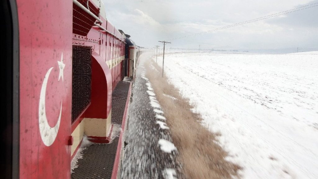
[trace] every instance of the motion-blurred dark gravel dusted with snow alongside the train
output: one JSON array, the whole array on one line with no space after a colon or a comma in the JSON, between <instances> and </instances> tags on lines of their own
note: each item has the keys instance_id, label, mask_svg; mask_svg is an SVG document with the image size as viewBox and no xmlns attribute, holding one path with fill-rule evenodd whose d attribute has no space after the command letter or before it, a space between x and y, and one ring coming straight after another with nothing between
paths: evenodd
<instances>
[{"instance_id":1,"label":"motion-blurred dark gravel dusted with snow alongside the train","mask_svg":"<svg viewBox=\"0 0 318 179\"><path fill-rule=\"evenodd\" d=\"M129 106L128 131L126 131L126 142L129 144L125 147L121 178L183 178L178 151L173 148L169 151L169 146L162 149L167 146L159 144L159 140L172 142L172 139L169 129L160 128L156 123L160 121L156 115L158 117L164 114L156 113L154 110L156 108L150 103L143 67L143 62L149 58L149 55L142 54L140 58L141 64L137 68L132 90L133 100Z\"/></svg>"}]
</instances>

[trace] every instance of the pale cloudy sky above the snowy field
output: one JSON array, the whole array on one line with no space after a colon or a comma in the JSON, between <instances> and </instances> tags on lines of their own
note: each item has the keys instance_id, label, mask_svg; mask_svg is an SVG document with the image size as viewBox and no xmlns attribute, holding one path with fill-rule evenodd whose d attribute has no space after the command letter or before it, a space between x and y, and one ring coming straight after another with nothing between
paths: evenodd
<instances>
[{"instance_id":1,"label":"pale cloudy sky above the snowy field","mask_svg":"<svg viewBox=\"0 0 318 179\"><path fill-rule=\"evenodd\" d=\"M177 37L286 11L318 0L102 0L107 19L138 46L318 50L318 6L189 38ZM316 4L317 5L317 4Z\"/></svg>"}]
</instances>

